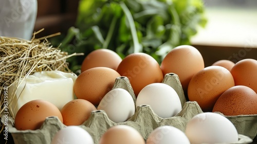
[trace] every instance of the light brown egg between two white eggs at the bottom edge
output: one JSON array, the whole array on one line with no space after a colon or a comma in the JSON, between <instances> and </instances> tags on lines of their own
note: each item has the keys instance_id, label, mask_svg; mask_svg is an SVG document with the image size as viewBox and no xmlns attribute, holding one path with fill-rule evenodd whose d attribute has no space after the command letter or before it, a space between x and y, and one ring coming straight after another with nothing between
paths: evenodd
<instances>
[{"instance_id":1,"label":"light brown egg between two white eggs at the bottom edge","mask_svg":"<svg viewBox=\"0 0 257 144\"><path fill-rule=\"evenodd\" d=\"M145 144L142 135L128 125L115 125L100 138L99 144Z\"/></svg>"}]
</instances>

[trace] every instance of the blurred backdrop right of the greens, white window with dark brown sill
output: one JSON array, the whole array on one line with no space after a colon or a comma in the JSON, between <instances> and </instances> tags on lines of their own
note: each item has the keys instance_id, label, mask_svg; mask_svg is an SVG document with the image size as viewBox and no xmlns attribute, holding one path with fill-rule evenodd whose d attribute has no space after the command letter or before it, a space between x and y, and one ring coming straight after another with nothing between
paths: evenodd
<instances>
[{"instance_id":1,"label":"blurred backdrop right of the greens, white window with dark brown sill","mask_svg":"<svg viewBox=\"0 0 257 144\"><path fill-rule=\"evenodd\" d=\"M257 1L204 2L208 23L198 29L191 43L203 53L206 65L221 59L257 59Z\"/></svg>"}]
</instances>

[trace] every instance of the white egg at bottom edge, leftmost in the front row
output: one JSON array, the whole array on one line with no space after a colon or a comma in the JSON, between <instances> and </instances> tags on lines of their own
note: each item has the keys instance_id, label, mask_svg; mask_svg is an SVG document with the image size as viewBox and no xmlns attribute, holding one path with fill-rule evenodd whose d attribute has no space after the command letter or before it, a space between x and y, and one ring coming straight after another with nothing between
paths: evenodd
<instances>
[{"instance_id":1,"label":"white egg at bottom edge, leftmost in the front row","mask_svg":"<svg viewBox=\"0 0 257 144\"><path fill-rule=\"evenodd\" d=\"M78 126L72 125L61 129L56 133L56 135L54 135L51 144L59 143L94 144L94 140L86 130Z\"/></svg>"}]
</instances>

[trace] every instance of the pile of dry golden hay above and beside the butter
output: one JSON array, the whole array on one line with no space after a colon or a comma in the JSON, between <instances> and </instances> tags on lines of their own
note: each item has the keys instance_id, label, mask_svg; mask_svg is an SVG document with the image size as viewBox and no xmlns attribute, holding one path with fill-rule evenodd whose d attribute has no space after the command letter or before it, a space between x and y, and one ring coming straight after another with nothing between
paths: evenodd
<instances>
[{"instance_id":1,"label":"pile of dry golden hay above and beside the butter","mask_svg":"<svg viewBox=\"0 0 257 144\"><path fill-rule=\"evenodd\" d=\"M5 87L10 87L14 84L14 87L17 88L20 80L24 80L26 76L32 75L35 71L60 70L72 73L66 60L72 56L83 55L83 53L68 55L67 52L52 47L47 38L53 37L58 33L40 39L35 39L35 34L36 32L30 41L0 37L1 116L10 108L12 99L15 96L15 93L13 93L8 95L8 99L5 99ZM16 89L14 89L14 92L16 92ZM5 106L5 103L8 103L8 107Z\"/></svg>"}]
</instances>

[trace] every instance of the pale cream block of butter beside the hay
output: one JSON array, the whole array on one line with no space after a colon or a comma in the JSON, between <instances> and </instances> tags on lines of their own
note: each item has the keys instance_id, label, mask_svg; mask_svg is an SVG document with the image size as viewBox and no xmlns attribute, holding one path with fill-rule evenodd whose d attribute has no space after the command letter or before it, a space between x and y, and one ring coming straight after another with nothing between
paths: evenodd
<instances>
[{"instance_id":1,"label":"pale cream block of butter beside the hay","mask_svg":"<svg viewBox=\"0 0 257 144\"><path fill-rule=\"evenodd\" d=\"M76 74L64 73L59 70L40 71L27 76L19 81L9 108L10 115L15 117L22 105L35 99L47 100L61 110L67 102L75 97L73 85L77 77ZM14 86L9 87L8 98L14 90Z\"/></svg>"}]
</instances>

